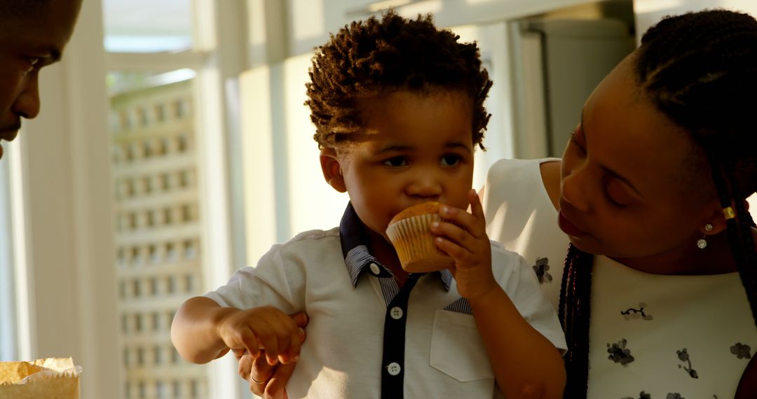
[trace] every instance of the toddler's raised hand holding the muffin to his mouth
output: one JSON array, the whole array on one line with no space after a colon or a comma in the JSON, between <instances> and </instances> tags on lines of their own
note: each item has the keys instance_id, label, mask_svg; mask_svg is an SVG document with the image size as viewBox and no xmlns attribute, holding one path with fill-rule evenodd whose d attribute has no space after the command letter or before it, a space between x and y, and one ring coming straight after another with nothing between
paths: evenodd
<instances>
[{"instance_id":1,"label":"toddler's raised hand holding the muffin to his mouth","mask_svg":"<svg viewBox=\"0 0 757 399\"><path fill-rule=\"evenodd\" d=\"M475 190L468 194L471 213L452 206L441 206L439 215L449 222L431 224L438 235L436 245L455 260L450 271L457 281L457 291L469 301L497 286L491 273L491 244L486 234L484 209Z\"/></svg>"}]
</instances>

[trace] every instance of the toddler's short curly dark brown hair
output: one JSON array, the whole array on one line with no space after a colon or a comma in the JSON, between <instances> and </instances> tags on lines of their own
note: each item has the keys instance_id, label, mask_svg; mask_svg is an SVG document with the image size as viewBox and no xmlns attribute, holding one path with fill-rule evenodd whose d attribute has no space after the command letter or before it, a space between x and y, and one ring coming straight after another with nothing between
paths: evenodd
<instances>
[{"instance_id":1,"label":"toddler's short curly dark brown hair","mask_svg":"<svg viewBox=\"0 0 757 399\"><path fill-rule=\"evenodd\" d=\"M316 49L306 84L310 120L319 148L335 147L363 128L360 100L397 90L459 90L472 100L473 144L490 115L484 108L491 80L475 43L437 29L431 15L407 20L388 11L344 26Z\"/></svg>"}]
</instances>

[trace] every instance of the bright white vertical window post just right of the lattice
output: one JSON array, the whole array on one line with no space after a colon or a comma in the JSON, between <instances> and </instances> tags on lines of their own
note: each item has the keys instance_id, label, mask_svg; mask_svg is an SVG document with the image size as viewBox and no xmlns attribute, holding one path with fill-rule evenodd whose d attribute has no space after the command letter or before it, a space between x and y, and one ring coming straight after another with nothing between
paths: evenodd
<instances>
[{"instance_id":1,"label":"bright white vertical window post just right of the lattice","mask_svg":"<svg viewBox=\"0 0 757 399\"><path fill-rule=\"evenodd\" d=\"M195 51L211 54L198 70L196 82L198 124L198 183L203 221L204 284L215 289L226 281L236 268L240 256L234 248L244 243L243 237L232 234L229 137L238 129L238 98L227 90L238 79L245 62L245 2L242 0L194 0ZM223 21L223 22L222 22ZM221 37L223 36L223 37ZM237 131L238 133L238 131ZM238 220L242 218L237 218ZM235 229L240 230L240 229ZM243 230L243 229L241 229ZM244 255L241 255L244 258ZM235 260L232 260L235 259ZM214 360L209 367L210 399L240 397L241 384L234 357Z\"/></svg>"}]
</instances>

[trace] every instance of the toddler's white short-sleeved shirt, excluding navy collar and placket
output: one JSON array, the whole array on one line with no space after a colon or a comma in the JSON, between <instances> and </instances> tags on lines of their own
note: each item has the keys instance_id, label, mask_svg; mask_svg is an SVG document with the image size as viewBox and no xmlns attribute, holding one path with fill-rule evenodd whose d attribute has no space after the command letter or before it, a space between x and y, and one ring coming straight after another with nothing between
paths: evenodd
<instances>
[{"instance_id":1,"label":"toddler's white short-sleeved shirt, excluding navy collar and placket","mask_svg":"<svg viewBox=\"0 0 757 399\"><path fill-rule=\"evenodd\" d=\"M301 358L287 385L289 397L381 397L382 372L402 373L407 398L494 396L494 373L472 315L444 310L458 303L454 280L425 274L410 292L407 308L388 308L382 277L367 263L350 278L339 229L313 230L273 246L256 268L237 271L226 286L206 294L221 306L272 305L310 317ZM513 252L492 243L497 282L521 314L557 348L565 339L532 269ZM381 273L387 270L376 264ZM454 308L454 307L453 307ZM464 307L463 307L464 308ZM404 358L383 364L385 317L404 317ZM507 339L507 337L503 337ZM391 345L388 344L388 345Z\"/></svg>"}]
</instances>

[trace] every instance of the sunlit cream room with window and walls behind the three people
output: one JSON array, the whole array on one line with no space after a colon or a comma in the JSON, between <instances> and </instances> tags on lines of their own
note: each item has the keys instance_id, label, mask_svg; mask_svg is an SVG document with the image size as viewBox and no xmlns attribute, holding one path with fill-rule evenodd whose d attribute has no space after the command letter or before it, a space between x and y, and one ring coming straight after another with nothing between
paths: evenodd
<instances>
[{"instance_id":1,"label":"sunlit cream room with window and walls behind the three people","mask_svg":"<svg viewBox=\"0 0 757 399\"><path fill-rule=\"evenodd\" d=\"M481 47L494 87L477 188L497 159L559 156L663 15L757 15L753 0L86 0L42 73L44 112L0 162L0 360L72 356L86 399L250 397L231 356L182 361L170 321L273 243L339 220L307 68L329 32L388 7Z\"/></svg>"}]
</instances>

